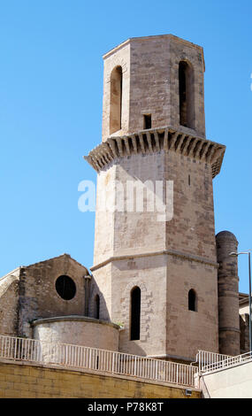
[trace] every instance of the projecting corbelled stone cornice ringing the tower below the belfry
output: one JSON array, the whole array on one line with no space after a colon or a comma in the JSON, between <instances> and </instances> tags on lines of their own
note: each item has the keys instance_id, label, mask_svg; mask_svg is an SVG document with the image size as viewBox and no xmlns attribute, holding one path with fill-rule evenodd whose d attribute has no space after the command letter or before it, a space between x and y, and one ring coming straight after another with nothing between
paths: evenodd
<instances>
[{"instance_id":1,"label":"projecting corbelled stone cornice ringing the tower below the belfry","mask_svg":"<svg viewBox=\"0 0 252 416\"><path fill-rule=\"evenodd\" d=\"M115 159L137 153L157 153L162 150L166 153L174 151L186 158L210 164L214 178L220 171L225 146L196 135L179 132L172 127L161 127L142 130L132 135L111 136L84 158L96 172L100 172Z\"/></svg>"}]
</instances>

